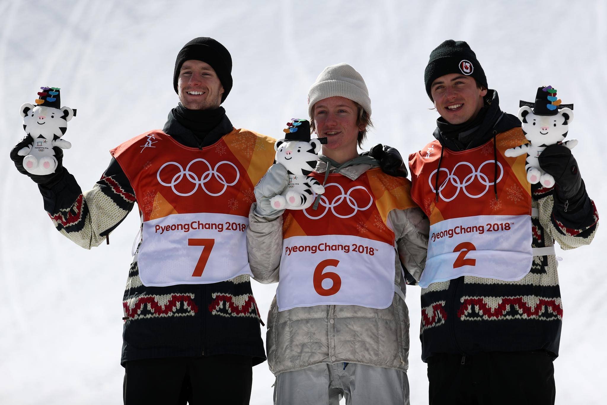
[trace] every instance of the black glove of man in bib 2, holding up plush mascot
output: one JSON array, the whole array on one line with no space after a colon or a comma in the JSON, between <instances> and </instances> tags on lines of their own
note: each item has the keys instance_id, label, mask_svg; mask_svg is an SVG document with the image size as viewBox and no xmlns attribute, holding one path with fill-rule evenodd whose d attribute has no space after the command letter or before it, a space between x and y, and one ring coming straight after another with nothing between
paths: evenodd
<instances>
[{"instance_id":1,"label":"black glove of man in bib 2, holding up plush mascot","mask_svg":"<svg viewBox=\"0 0 607 405\"><path fill-rule=\"evenodd\" d=\"M554 177L555 208L563 213L582 209L588 194L571 149L563 145L549 145L537 160L540 168Z\"/></svg>"}]
</instances>

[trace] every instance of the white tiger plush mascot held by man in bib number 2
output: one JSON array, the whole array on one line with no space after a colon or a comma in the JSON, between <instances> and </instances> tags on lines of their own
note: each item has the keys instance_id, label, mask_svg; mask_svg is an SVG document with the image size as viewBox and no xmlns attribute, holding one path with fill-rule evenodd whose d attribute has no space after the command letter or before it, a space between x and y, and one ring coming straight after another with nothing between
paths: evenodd
<instances>
[{"instance_id":1,"label":"white tiger plush mascot held by man in bib number 2","mask_svg":"<svg viewBox=\"0 0 607 405\"><path fill-rule=\"evenodd\" d=\"M531 184L539 182L546 188L554 186L554 177L540 168L538 156L546 146L555 143L562 143L569 149L577 145L577 139L563 141L569 131L568 124L573 120L573 104L561 106L561 100L557 100L556 95L557 90L551 86L539 87L535 103L521 101L518 119L522 122L523 133L529 143L506 149L505 153L507 157L526 153L527 180Z\"/></svg>"}]
</instances>

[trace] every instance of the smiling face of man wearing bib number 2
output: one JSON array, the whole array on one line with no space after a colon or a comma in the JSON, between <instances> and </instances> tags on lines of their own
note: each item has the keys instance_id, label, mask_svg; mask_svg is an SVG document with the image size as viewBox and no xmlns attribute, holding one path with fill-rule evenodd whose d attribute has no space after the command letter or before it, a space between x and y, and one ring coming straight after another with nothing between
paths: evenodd
<instances>
[{"instance_id":1,"label":"smiling face of man wearing bib number 2","mask_svg":"<svg viewBox=\"0 0 607 405\"><path fill-rule=\"evenodd\" d=\"M487 95L487 89L479 89L473 77L460 73L439 77L430 91L436 111L450 124L462 124L476 117Z\"/></svg>"}]
</instances>

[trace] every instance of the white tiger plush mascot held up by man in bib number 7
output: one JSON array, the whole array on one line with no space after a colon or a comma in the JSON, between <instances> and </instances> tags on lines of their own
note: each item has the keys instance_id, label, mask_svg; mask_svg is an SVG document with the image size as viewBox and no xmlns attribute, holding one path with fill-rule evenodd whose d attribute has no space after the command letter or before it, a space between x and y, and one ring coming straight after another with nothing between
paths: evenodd
<instances>
[{"instance_id":1,"label":"white tiger plush mascot held up by man in bib number 7","mask_svg":"<svg viewBox=\"0 0 607 405\"><path fill-rule=\"evenodd\" d=\"M67 121L76 115L70 107L60 107L58 87L40 87L38 104L25 103L19 112L23 117L23 129L32 138L29 146L18 154L24 156L23 167L32 174L45 175L55 172L57 159L53 146L72 148L72 144L61 137L66 133Z\"/></svg>"}]
</instances>

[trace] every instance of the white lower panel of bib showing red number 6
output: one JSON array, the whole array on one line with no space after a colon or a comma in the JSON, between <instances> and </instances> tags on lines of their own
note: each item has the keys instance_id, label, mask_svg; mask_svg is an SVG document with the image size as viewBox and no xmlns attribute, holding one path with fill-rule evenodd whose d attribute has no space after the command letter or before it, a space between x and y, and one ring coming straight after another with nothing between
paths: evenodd
<instances>
[{"instance_id":1,"label":"white lower panel of bib showing red number 6","mask_svg":"<svg viewBox=\"0 0 607 405\"><path fill-rule=\"evenodd\" d=\"M395 248L359 236L283 240L278 310L313 305L387 308L394 296Z\"/></svg>"}]
</instances>

